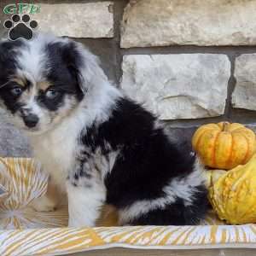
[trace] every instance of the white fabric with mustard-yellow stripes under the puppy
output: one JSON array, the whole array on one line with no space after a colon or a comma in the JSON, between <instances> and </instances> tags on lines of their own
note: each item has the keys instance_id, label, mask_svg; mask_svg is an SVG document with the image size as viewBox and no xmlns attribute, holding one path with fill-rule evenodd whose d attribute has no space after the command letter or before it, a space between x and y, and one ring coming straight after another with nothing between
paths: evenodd
<instances>
[{"instance_id":1,"label":"white fabric with mustard-yellow stripes under the puppy","mask_svg":"<svg viewBox=\"0 0 256 256\"><path fill-rule=\"evenodd\" d=\"M67 207L34 212L28 205L47 188L47 177L31 159L1 159L0 255L60 255L96 248L256 247L256 225L224 225L211 212L198 226L96 227L68 229Z\"/></svg>"}]
</instances>

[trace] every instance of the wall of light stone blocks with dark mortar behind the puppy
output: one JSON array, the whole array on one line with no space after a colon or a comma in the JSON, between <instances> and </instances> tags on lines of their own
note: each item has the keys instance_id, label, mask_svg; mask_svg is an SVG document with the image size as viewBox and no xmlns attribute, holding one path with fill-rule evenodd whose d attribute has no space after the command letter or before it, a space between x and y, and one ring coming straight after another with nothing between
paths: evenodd
<instances>
[{"instance_id":1,"label":"wall of light stone blocks with dark mortar behind the puppy","mask_svg":"<svg viewBox=\"0 0 256 256\"><path fill-rule=\"evenodd\" d=\"M41 13L32 15L39 30L87 45L109 78L175 128L170 132L177 137L221 120L254 127L256 1L35 2L41 4ZM1 1L1 9L7 3L13 2ZM7 18L0 15L1 37Z\"/></svg>"}]
</instances>

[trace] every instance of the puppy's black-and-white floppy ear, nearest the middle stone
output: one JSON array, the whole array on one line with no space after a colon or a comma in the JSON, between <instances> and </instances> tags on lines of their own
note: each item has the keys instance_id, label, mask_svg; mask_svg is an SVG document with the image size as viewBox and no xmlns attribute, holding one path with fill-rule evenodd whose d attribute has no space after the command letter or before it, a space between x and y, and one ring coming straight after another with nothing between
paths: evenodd
<instances>
[{"instance_id":1,"label":"puppy's black-and-white floppy ear, nearest the middle stone","mask_svg":"<svg viewBox=\"0 0 256 256\"><path fill-rule=\"evenodd\" d=\"M99 82L99 79L106 80L107 77L98 58L84 48L83 44L70 41L67 47L63 51L63 58L74 79L76 79L80 90L85 95L90 90L90 86Z\"/></svg>"}]
</instances>

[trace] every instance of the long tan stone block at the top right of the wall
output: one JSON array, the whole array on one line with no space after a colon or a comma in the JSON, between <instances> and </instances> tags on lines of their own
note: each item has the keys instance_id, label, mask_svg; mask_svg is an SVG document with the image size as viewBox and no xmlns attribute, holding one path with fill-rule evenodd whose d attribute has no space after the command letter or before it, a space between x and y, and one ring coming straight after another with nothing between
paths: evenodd
<instances>
[{"instance_id":1,"label":"long tan stone block at the top right of the wall","mask_svg":"<svg viewBox=\"0 0 256 256\"><path fill-rule=\"evenodd\" d=\"M121 47L255 45L255 16L253 0L132 0Z\"/></svg>"}]
</instances>

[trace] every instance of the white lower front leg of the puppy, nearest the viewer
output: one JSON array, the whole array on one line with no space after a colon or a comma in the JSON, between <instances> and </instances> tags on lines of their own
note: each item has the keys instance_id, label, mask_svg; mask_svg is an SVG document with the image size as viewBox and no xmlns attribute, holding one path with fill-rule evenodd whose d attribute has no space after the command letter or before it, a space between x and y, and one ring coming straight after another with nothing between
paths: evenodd
<instances>
[{"instance_id":1,"label":"white lower front leg of the puppy, nearest the viewer","mask_svg":"<svg viewBox=\"0 0 256 256\"><path fill-rule=\"evenodd\" d=\"M68 226L92 227L99 218L106 191L101 183L73 183L67 181Z\"/></svg>"}]
</instances>

